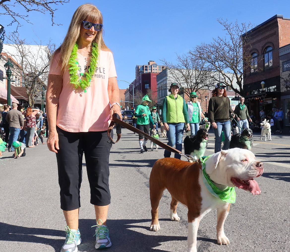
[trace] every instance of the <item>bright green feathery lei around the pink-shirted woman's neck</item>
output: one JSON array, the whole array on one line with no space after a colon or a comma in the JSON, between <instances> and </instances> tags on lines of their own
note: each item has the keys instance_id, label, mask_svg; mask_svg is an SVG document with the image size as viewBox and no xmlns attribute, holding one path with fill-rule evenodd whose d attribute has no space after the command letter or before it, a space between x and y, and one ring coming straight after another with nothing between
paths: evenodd
<instances>
[{"instance_id":1,"label":"bright green feathery lei around the pink-shirted woman's neck","mask_svg":"<svg viewBox=\"0 0 290 252\"><path fill-rule=\"evenodd\" d=\"M81 73L81 77L78 76L79 71L79 61L77 58L77 50L79 49L77 43L75 43L72 53L70 54L70 59L68 60L68 70L70 74L70 83L75 85L75 89L78 87L81 87L82 90L84 90L84 93L87 92L88 87L90 86L91 78L95 72L95 69L97 67L97 61L99 57L99 50L97 43L93 43L92 46L92 57L90 62L90 67L88 67L88 72Z\"/></svg>"}]
</instances>

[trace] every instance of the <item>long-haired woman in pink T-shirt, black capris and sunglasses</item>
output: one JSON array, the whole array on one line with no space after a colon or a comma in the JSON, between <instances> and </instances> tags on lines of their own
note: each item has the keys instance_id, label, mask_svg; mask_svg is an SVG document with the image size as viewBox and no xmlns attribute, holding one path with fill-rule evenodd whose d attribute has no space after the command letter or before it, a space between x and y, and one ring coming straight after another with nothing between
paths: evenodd
<instances>
[{"instance_id":1,"label":"long-haired woman in pink T-shirt, black capris and sunglasses","mask_svg":"<svg viewBox=\"0 0 290 252\"><path fill-rule=\"evenodd\" d=\"M47 145L56 153L60 201L66 219L64 251L77 251L82 158L96 215L96 249L111 246L106 226L109 154L106 131L113 113L122 118L112 52L103 38L103 17L93 4L77 8L64 42L52 56L46 92L49 125ZM85 108L81 113L75 108Z\"/></svg>"}]
</instances>

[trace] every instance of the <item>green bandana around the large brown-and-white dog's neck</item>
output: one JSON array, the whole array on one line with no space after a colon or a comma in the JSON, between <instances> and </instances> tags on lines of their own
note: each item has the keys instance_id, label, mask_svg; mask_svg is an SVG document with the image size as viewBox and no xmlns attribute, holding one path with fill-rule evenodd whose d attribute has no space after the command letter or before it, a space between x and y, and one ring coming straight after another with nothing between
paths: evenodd
<instances>
[{"instance_id":1,"label":"green bandana around the large brown-and-white dog's neck","mask_svg":"<svg viewBox=\"0 0 290 252\"><path fill-rule=\"evenodd\" d=\"M211 156L211 155L210 155ZM228 203L235 203L235 187L227 187L225 190L220 190L214 183L213 181L209 178L209 175L207 175L205 171L205 161L210 157L202 157L201 158L201 163L202 163L202 180L204 182L204 185L208 191L215 196L216 198L219 198L225 202Z\"/></svg>"}]
</instances>

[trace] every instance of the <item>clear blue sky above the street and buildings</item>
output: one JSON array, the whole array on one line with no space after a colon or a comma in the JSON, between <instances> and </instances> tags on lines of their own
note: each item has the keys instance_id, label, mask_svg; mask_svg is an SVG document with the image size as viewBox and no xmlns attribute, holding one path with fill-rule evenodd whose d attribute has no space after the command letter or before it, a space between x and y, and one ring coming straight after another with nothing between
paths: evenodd
<instances>
[{"instance_id":1,"label":"clear blue sky above the street and buildings","mask_svg":"<svg viewBox=\"0 0 290 252\"><path fill-rule=\"evenodd\" d=\"M13 1L12 1L13 2ZM46 44L51 39L60 45L68 30L76 8L86 2L70 0L57 6L52 26L49 14L29 13L29 24L21 21L21 39L35 44ZM136 65L147 64L149 60L161 64L161 59L175 62L176 54L187 53L200 43L210 43L212 38L222 35L218 18L239 23L263 23L276 14L290 18L289 0L277 1L90 1L104 17L104 41L112 50L118 80L132 82ZM20 10L19 10L20 11ZM23 13L23 12L22 12ZM13 31L7 26L11 19L1 16L0 23L6 33ZM7 41L4 41L7 43ZM118 82L119 88L126 89L128 83Z\"/></svg>"}]
</instances>

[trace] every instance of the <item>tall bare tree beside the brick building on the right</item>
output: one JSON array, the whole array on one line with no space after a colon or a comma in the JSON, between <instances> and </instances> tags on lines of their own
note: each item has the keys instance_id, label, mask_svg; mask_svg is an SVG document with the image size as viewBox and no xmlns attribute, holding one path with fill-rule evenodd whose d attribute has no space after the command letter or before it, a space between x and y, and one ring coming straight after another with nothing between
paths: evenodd
<instances>
[{"instance_id":1,"label":"tall bare tree beside the brick building on the right","mask_svg":"<svg viewBox=\"0 0 290 252\"><path fill-rule=\"evenodd\" d=\"M190 53L194 57L206 62L209 71L213 71L215 82L224 83L241 96L243 90L244 73L251 67L251 55L245 55L243 49L249 45L247 31L251 30L251 23L234 23L218 19L226 32L224 37L218 36L213 42L198 45ZM245 34L243 37L242 35ZM258 69L256 69L259 72ZM230 74L229 74L230 73Z\"/></svg>"}]
</instances>

